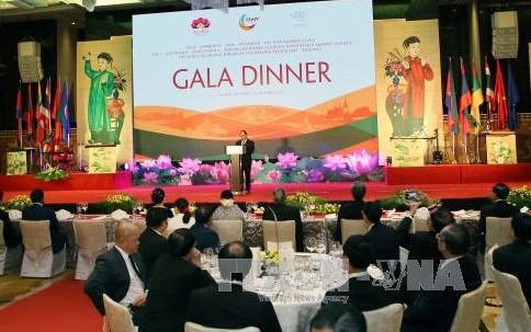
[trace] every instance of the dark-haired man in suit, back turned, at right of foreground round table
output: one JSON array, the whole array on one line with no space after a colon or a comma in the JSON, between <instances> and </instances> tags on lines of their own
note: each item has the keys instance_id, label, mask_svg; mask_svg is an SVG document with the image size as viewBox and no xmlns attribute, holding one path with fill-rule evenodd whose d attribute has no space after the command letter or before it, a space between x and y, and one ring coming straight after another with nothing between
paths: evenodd
<instances>
[{"instance_id":1,"label":"dark-haired man in suit, back turned, at right of foreground round table","mask_svg":"<svg viewBox=\"0 0 531 332\"><path fill-rule=\"evenodd\" d=\"M349 260L349 281L339 288L328 290L324 305L342 302L369 311L395 302L393 291L375 285L375 278L368 272L369 265L376 262L376 255L365 236L351 236L343 244L343 256Z\"/></svg>"}]
</instances>

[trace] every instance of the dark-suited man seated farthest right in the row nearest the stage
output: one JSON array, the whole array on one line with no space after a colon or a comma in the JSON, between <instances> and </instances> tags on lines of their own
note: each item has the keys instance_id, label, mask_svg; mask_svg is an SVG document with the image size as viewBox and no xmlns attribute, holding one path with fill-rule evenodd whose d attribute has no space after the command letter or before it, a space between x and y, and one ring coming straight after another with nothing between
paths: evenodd
<instances>
[{"instance_id":1,"label":"dark-suited man seated farthest right in the row nearest the stage","mask_svg":"<svg viewBox=\"0 0 531 332\"><path fill-rule=\"evenodd\" d=\"M507 203L507 197L509 197L510 188L505 183L496 183L493 186L493 195L490 198L494 201L493 204L482 207L479 214L479 239L478 245L482 252L485 252L485 234L487 231L487 217L498 217L498 218L510 218L518 209L516 206Z\"/></svg>"}]
</instances>

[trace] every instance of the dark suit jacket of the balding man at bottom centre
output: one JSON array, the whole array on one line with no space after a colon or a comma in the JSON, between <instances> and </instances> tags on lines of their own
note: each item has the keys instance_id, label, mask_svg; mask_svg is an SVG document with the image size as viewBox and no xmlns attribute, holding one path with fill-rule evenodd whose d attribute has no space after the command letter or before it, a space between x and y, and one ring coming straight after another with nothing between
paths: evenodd
<instances>
[{"instance_id":1,"label":"dark suit jacket of the balding man at bottom centre","mask_svg":"<svg viewBox=\"0 0 531 332\"><path fill-rule=\"evenodd\" d=\"M192 293L187 321L218 329L256 327L264 332L282 331L268 298L244 290L240 285L222 283L221 286L230 290L214 285Z\"/></svg>"}]
</instances>

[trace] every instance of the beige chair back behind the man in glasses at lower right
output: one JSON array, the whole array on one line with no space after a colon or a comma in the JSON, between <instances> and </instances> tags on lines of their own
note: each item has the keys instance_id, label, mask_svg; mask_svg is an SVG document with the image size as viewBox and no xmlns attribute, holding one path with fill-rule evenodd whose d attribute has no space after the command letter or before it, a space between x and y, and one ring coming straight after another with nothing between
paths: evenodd
<instances>
[{"instance_id":1,"label":"beige chair back behind the man in glasses at lower right","mask_svg":"<svg viewBox=\"0 0 531 332\"><path fill-rule=\"evenodd\" d=\"M483 282L477 289L463 294L459 299L450 332L477 332L486 297L487 282Z\"/></svg>"}]
</instances>

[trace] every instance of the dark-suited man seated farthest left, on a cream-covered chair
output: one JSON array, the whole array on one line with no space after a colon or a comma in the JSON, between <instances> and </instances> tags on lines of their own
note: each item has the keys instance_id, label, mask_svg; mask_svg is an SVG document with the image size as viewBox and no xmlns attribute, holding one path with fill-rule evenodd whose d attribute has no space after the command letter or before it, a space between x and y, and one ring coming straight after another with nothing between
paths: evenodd
<instances>
[{"instance_id":1,"label":"dark-suited man seated farthest left, on a cream-covered chair","mask_svg":"<svg viewBox=\"0 0 531 332\"><path fill-rule=\"evenodd\" d=\"M22 219L24 220L49 220L49 234L52 238L52 250L57 253L65 248L67 237L60 226L55 211L43 205L44 192L42 190L34 190L30 194L33 205L22 211Z\"/></svg>"}]
</instances>

